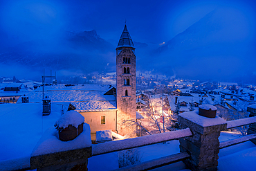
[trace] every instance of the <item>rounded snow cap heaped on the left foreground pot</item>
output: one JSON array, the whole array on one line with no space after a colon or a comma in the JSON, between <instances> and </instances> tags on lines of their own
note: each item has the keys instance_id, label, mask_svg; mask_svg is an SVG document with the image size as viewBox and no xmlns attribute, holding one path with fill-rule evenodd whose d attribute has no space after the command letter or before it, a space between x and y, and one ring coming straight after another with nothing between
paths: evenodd
<instances>
[{"instance_id":1,"label":"rounded snow cap heaped on the left foreground pot","mask_svg":"<svg viewBox=\"0 0 256 171\"><path fill-rule=\"evenodd\" d=\"M81 123L84 123L84 116L77 111L67 111L66 114L60 116L54 126L65 129L68 125L73 125L77 128Z\"/></svg>"}]
</instances>

